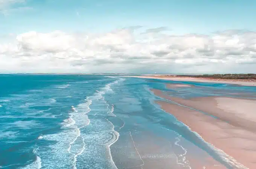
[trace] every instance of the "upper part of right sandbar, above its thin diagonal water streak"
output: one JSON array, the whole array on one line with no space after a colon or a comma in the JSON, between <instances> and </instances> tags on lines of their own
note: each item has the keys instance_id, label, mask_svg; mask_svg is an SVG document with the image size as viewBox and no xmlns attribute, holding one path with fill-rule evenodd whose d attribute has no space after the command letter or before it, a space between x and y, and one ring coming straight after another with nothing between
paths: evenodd
<instances>
[{"instance_id":1,"label":"upper part of right sandbar, above its thin diagonal water streak","mask_svg":"<svg viewBox=\"0 0 256 169\"><path fill-rule=\"evenodd\" d=\"M188 100L163 95L160 90L154 90L154 94L161 95L161 97L168 100L209 113L210 115L218 117L222 121L228 121L229 124L236 127L243 127L249 131L256 132L256 119L254 115L256 112L256 100L224 97L204 97ZM227 109L227 107L229 108ZM250 118L247 118L248 116L250 116ZM252 116L254 119L251 119Z\"/></svg>"}]
</instances>

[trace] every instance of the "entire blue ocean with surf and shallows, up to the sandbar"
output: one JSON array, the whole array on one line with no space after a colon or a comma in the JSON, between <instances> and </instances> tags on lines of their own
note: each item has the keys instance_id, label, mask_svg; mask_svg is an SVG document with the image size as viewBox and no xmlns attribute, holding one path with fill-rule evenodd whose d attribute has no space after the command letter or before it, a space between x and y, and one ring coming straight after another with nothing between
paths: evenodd
<instances>
[{"instance_id":1,"label":"entire blue ocean with surf and shallows, up to the sandbar","mask_svg":"<svg viewBox=\"0 0 256 169\"><path fill-rule=\"evenodd\" d=\"M150 89L167 90L163 81L50 74L0 75L0 80L0 168L146 169L159 163L189 169L189 153L225 163L189 128L154 103L163 99ZM234 85L207 85L218 91L241 90ZM183 90L175 94L213 95Z\"/></svg>"}]
</instances>

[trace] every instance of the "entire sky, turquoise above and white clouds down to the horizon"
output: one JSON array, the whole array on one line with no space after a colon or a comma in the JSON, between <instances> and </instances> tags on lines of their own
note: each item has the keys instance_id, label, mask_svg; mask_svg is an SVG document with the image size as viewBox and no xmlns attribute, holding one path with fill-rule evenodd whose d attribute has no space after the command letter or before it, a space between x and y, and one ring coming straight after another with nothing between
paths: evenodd
<instances>
[{"instance_id":1,"label":"entire sky, turquoise above and white clouds down to the horizon","mask_svg":"<svg viewBox=\"0 0 256 169\"><path fill-rule=\"evenodd\" d=\"M256 73L254 0L0 0L0 72Z\"/></svg>"}]
</instances>

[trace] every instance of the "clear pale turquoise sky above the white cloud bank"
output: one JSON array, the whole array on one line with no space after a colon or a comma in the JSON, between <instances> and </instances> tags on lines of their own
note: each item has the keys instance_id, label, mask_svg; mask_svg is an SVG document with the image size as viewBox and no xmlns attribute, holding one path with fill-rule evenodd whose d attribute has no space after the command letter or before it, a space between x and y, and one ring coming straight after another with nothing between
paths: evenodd
<instances>
[{"instance_id":1,"label":"clear pale turquoise sky above the white cloud bank","mask_svg":"<svg viewBox=\"0 0 256 169\"><path fill-rule=\"evenodd\" d=\"M137 25L167 26L175 34L256 29L254 0L27 0L5 10L10 12L0 15L2 34L105 32Z\"/></svg>"}]
</instances>

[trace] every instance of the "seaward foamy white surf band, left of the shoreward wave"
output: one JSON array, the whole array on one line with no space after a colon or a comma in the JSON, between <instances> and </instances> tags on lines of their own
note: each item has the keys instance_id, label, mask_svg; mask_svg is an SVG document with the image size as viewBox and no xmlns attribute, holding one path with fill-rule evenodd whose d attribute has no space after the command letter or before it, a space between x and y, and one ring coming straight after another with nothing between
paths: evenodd
<instances>
[{"instance_id":1,"label":"seaward foamy white surf band, left of the shoreward wave","mask_svg":"<svg viewBox=\"0 0 256 169\"><path fill-rule=\"evenodd\" d=\"M54 140L56 144L50 145L49 151L38 151L39 157L42 158L42 166L46 168L68 168L76 169L78 155L82 154L85 149L84 139L81 137L81 128L90 124L90 119L86 115L90 112L91 99L86 98L85 103L75 106L75 110L70 110L69 118L62 122L61 133L41 135L38 139ZM52 152L53 151L53 152ZM51 156L49 157L49 153ZM73 159L70 161L69 159ZM46 161L45 161L46 160ZM56 160L64 161L63 164L55 163Z\"/></svg>"}]
</instances>

